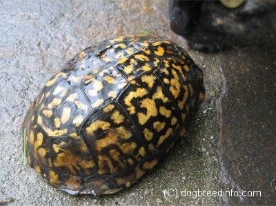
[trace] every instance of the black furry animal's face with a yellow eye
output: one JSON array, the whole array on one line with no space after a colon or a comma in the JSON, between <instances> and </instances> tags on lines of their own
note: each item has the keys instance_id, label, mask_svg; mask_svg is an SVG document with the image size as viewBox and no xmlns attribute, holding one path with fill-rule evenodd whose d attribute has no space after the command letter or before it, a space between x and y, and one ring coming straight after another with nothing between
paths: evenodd
<instances>
[{"instance_id":1,"label":"black furry animal's face with a yellow eye","mask_svg":"<svg viewBox=\"0 0 276 206\"><path fill-rule=\"evenodd\" d=\"M217 51L276 35L276 1L169 1L170 28L190 48Z\"/></svg>"}]
</instances>

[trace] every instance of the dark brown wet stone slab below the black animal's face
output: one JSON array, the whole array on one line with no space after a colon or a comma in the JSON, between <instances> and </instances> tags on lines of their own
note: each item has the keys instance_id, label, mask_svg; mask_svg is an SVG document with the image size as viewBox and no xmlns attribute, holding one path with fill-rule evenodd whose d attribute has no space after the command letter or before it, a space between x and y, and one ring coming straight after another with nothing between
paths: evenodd
<instances>
[{"instance_id":1,"label":"dark brown wet stone slab below the black animal's face","mask_svg":"<svg viewBox=\"0 0 276 206\"><path fill-rule=\"evenodd\" d=\"M264 38L258 45L240 48L238 55L225 53L227 82L217 147L220 185L239 196L220 197L221 204L276 203L271 187L276 176L275 44L276 38Z\"/></svg>"}]
</instances>

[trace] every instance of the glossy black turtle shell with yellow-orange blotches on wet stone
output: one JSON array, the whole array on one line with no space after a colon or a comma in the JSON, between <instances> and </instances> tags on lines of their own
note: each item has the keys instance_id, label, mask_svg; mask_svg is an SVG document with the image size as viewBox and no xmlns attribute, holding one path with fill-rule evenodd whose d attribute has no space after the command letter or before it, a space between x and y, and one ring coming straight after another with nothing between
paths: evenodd
<instances>
[{"instance_id":1,"label":"glossy black turtle shell with yellow-orange blotches on wet stone","mask_svg":"<svg viewBox=\"0 0 276 206\"><path fill-rule=\"evenodd\" d=\"M23 121L27 161L69 194L112 194L154 168L204 101L201 70L171 41L133 35L86 48Z\"/></svg>"}]
</instances>

